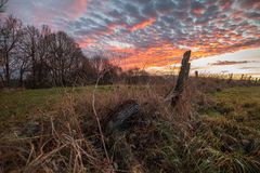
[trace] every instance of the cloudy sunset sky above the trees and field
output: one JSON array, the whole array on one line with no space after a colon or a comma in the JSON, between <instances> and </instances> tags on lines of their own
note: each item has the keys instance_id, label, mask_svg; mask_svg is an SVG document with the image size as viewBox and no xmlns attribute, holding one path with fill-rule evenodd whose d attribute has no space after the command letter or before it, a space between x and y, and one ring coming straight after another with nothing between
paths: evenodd
<instances>
[{"instance_id":1,"label":"cloudy sunset sky above the trees and field","mask_svg":"<svg viewBox=\"0 0 260 173\"><path fill-rule=\"evenodd\" d=\"M125 69L167 74L192 50L193 71L260 77L260 0L10 0L5 13Z\"/></svg>"}]
</instances>

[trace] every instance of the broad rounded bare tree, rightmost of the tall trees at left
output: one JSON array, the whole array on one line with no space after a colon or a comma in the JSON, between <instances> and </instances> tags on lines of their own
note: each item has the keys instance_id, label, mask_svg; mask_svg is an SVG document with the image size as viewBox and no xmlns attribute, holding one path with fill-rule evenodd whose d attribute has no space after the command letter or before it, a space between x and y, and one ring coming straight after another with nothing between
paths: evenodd
<instances>
[{"instance_id":1,"label":"broad rounded bare tree, rightmost of the tall trees at left","mask_svg":"<svg viewBox=\"0 0 260 173\"><path fill-rule=\"evenodd\" d=\"M79 67L82 52L79 45L63 31L50 35L50 55L48 65L55 85L67 85L73 82L72 74Z\"/></svg>"}]
</instances>

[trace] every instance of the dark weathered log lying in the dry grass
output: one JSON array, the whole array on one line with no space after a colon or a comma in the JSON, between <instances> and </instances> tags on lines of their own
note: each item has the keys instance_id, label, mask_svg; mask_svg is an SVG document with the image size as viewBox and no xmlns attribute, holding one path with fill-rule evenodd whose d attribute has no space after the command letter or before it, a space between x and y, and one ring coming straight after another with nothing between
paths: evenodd
<instances>
[{"instance_id":1,"label":"dark weathered log lying in the dry grass","mask_svg":"<svg viewBox=\"0 0 260 173\"><path fill-rule=\"evenodd\" d=\"M128 99L118 105L106 116L104 121L105 132L112 133L117 129L123 128L127 121L135 117L139 111L140 105L133 99Z\"/></svg>"}]
</instances>

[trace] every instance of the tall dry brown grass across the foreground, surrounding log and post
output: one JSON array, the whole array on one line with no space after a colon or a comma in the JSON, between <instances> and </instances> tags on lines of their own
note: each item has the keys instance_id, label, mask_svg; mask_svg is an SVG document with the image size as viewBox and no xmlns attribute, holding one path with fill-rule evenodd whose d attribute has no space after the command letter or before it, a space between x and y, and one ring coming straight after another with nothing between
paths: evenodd
<instances>
[{"instance_id":1,"label":"tall dry brown grass across the foreground, surrounding log and post","mask_svg":"<svg viewBox=\"0 0 260 173\"><path fill-rule=\"evenodd\" d=\"M219 80L192 79L182 104L174 109L165 102L168 84L122 84L112 86L108 92L96 92L96 114L91 92L69 92L55 110L39 111L29 123L16 127L16 131L1 133L0 170L28 173L156 173L190 172L191 169L193 172L258 172L258 130L197 112L197 107L212 104L205 92L218 91L216 83L220 91L226 88ZM95 116L102 120L116 105L129 98L138 101L141 112L120 135L107 136L104 132L106 156ZM131 154L127 158L122 157L126 151Z\"/></svg>"}]
</instances>

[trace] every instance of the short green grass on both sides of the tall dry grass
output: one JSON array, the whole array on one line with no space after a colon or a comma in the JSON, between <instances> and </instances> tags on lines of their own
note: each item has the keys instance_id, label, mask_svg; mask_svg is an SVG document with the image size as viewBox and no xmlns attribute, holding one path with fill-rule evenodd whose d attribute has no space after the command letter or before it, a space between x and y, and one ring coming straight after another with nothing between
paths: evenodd
<instances>
[{"instance_id":1,"label":"short green grass on both sides of the tall dry grass","mask_svg":"<svg viewBox=\"0 0 260 173\"><path fill-rule=\"evenodd\" d=\"M98 92L109 92L112 85L99 86ZM38 111L50 111L66 94L91 93L94 86L84 88L55 88L39 90L5 90L0 92L0 120L9 118L26 118ZM224 116L226 118L247 118L247 120L260 117L260 88L230 88L222 92L211 92L208 96L218 103L218 107L204 109L200 114L210 117Z\"/></svg>"}]
</instances>

